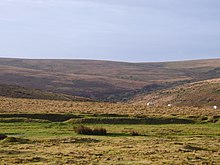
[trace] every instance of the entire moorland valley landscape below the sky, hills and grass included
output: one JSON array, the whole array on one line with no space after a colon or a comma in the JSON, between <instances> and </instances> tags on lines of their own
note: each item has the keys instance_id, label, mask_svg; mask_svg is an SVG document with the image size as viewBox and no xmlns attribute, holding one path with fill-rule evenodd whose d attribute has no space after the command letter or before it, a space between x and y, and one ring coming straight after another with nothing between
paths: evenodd
<instances>
[{"instance_id":1,"label":"entire moorland valley landscape below the sky, hills and grass included","mask_svg":"<svg viewBox=\"0 0 220 165\"><path fill-rule=\"evenodd\" d=\"M219 67L0 59L0 164L219 164Z\"/></svg>"}]
</instances>

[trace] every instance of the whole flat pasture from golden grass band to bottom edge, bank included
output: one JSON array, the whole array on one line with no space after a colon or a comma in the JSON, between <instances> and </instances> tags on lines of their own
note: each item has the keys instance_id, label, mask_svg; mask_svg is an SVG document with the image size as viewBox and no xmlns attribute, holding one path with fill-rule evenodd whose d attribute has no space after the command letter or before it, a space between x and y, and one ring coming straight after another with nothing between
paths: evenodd
<instances>
[{"instance_id":1,"label":"whole flat pasture from golden grass band to bottom edge, bank included","mask_svg":"<svg viewBox=\"0 0 220 165\"><path fill-rule=\"evenodd\" d=\"M0 164L220 164L219 110L1 98ZM82 135L74 127L105 128ZM133 134L136 132L137 134ZM135 135L135 136L134 136Z\"/></svg>"}]
</instances>

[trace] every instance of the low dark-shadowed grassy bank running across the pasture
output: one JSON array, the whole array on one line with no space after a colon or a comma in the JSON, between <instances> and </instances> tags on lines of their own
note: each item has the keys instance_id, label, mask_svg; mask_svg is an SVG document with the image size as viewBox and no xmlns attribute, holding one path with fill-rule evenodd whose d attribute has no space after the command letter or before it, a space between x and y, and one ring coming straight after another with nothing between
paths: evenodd
<instances>
[{"instance_id":1,"label":"low dark-shadowed grassy bank running across the pasture","mask_svg":"<svg viewBox=\"0 0 220 165\"><path fill-rule=\"evenodd\" d=\"M0 122L67 122L73 124L219 123L220 116L134 116L117 114L0 114Z\"/></svg>"}]
</instances>

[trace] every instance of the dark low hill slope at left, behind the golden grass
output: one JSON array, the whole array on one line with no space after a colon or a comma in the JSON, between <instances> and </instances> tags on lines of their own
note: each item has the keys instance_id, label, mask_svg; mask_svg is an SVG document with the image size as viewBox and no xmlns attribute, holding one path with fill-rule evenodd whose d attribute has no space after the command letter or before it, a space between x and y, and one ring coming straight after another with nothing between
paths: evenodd
<instances>
[{"instance_id":1,"label":"dark low hill slope at left, behind the golden grass","mask_svg":"<svg viewBox=\"0 0 220 165\"><path fill-rule=\"evenodd\" d=\"M92 101L92 99L78 97L78 96L44 92L37 89L30 89L15 85L4 85L4 84L0 84L0 96L10 97L10 98L27 98L27 99L43 99L43 100L82 101L82 102Z\"/></svg>"}]
</instances>

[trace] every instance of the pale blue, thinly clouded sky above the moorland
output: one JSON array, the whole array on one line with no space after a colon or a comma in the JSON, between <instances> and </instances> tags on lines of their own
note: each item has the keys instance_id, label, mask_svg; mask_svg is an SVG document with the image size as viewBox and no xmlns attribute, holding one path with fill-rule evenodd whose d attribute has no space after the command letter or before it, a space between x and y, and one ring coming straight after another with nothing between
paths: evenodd
<instances>
[{"instance_id":1,"label":"pale blue, thinly clouded sky above the moorland","mask_svg":"<svg viewBox=\"0 0 220 165\"><path fill-rule=\"evenodd\" d=\"M0 0L0 57L220 57L219 0Z\"/></svg>"}]
</instances>

